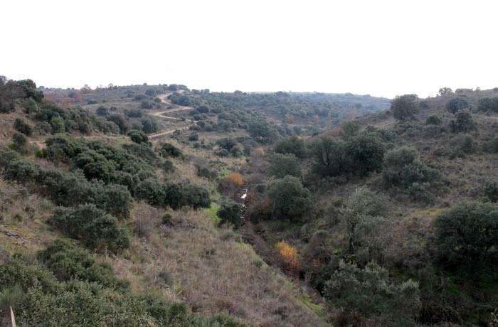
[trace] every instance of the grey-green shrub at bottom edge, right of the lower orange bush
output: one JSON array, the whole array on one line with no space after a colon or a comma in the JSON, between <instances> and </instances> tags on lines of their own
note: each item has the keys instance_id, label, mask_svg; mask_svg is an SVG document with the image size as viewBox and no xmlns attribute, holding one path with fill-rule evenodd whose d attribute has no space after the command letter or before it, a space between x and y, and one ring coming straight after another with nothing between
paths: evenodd
<instances>
[{"instance_id":1,"label":"grey-green shrub at bottom edge, right of the lower orange bush","mask_svg":"<svg viewBox=\"0 0 498 327\"><path fill-rule=\"evenodd\" d=\"M370 326L364 320L369 318L380 319L381 326L416 326L421 308L417 282L391 282L387 269L373 262L360 269L341 261L325 286L324 296L329 306L344 310L343 318L351 319L359 313L359 326Z\"/></svg>"}]
</instances>

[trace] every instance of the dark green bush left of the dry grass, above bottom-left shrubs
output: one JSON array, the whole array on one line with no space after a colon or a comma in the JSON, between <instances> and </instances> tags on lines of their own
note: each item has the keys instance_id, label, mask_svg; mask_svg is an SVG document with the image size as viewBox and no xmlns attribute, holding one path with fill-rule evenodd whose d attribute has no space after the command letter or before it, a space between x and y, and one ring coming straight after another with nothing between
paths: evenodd
<instances>
[{"instance_id":1,"label":"dark green bush left of the dry grass, above bottom-left shrubs","mask_svg":"<svg viewBox=\"0 0 498 327\"><path fill-rule=\"evenodd\" d=\"M117 219L95 205L78 205L77 208L55 209L48 223L65 235L83 242L92 250L116 252L129 247L127 230L120 227Z\"/></svg>"}]
</instances>

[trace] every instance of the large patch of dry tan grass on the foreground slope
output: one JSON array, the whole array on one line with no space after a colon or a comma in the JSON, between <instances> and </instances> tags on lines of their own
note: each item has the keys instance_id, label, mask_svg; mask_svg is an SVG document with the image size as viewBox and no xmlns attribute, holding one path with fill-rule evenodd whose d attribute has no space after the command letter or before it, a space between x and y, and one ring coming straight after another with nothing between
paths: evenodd
<instances>
[{"instance_id":1,"label":"large patch of dry tan grass on the foreground slope","mask_svg":"<svg viewBox=\"0 0 498 327\"><path fill-rule=\"evenodd\" d=\"M139 203L134 221L142 215L157 217L159 211ZM238 242L237 234L218 230L194 210L173 213L172 222L147 239L134 238L124 258L107 258L134 290L156 289L194 311L228 311L255 326L327 326L298 300L306 294Z\"/></svg>"}]
</instances>

